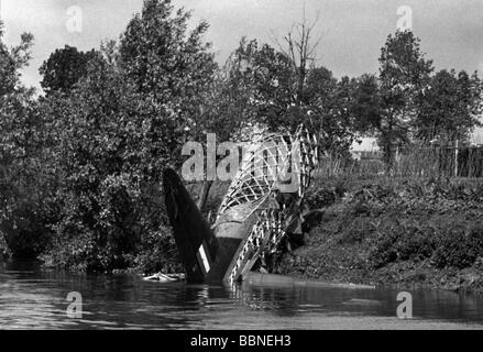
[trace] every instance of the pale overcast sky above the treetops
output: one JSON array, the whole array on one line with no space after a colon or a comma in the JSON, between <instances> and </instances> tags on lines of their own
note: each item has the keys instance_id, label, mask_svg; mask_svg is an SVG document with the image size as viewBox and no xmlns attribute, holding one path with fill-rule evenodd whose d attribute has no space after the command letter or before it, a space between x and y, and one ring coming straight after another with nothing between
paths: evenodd
<instances>
[{"instance_id":1,"label":"pale overcast sky above the treetops","mask_svg":"<svg viewBox=\"0 0 483 352\"><path fill-rule=\"evenodd\" d=\"M395 32L397 9L413 10L413 29L427 57L440 68L483 72L483 1L481 0L306 0L308 19L320 18L316 28L322 40L319 64L336 76L359 76L377 70L381 46ZM272 32L282 36L303 16L301 0L175 0L191 9L194 21L210 23L207 40L222 62L241 36L275 45ZM69 32L72 7L81 9L80 32ZM20 33L35 36L34 59L24 73L28 85L39 86L39 67L50 53L65 44L98 48L101 40L118 38L142 0L0 0L8 44ZM76 8L74 8L76 9ZM70 22L69 22L70 20ZM78 26L77 26L78 29Z\"/></svg>"}]
</instances>

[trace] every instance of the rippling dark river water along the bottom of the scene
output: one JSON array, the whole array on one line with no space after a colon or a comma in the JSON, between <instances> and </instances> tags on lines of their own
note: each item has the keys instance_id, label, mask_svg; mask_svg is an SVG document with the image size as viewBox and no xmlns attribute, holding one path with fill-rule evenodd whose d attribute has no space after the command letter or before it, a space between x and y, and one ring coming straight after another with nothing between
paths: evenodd
<instances>
[{"instance_id":1,"label":"rippling dark river water along the bottom of the scene","mask_svg":"<svg viewBox=\"0 0 483 352\"><path fill-rule=\"evenodd\" d=\"M81 295L81 318L67 308ZM162 284L136 275L85 275L0 264L0 329L481 329L483 297L413 290L413 319L397 290L317 285Z\"/></svg>"}]
</instances>

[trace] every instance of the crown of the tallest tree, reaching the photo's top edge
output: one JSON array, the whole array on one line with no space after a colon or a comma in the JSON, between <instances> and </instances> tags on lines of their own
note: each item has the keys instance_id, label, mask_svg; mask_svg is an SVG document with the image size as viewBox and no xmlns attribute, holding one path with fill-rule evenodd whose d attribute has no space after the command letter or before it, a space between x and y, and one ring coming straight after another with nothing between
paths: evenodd
<instances>
[{"instance_id":1,"label":"crown of the tallest tree, reaching the photo's top edge","mask_svg":"<svg viewBox=\"0 0 483 352\"><path fill-rule=\"evenodd\" d=\"M168 106L179 141L199 117L217 64L202 42L208 23L187 31L190 13L174 11L171 0L145 0L141 14L128 24L119 46L120 66L155 106Z\"/></svg>"}]
</instances>

